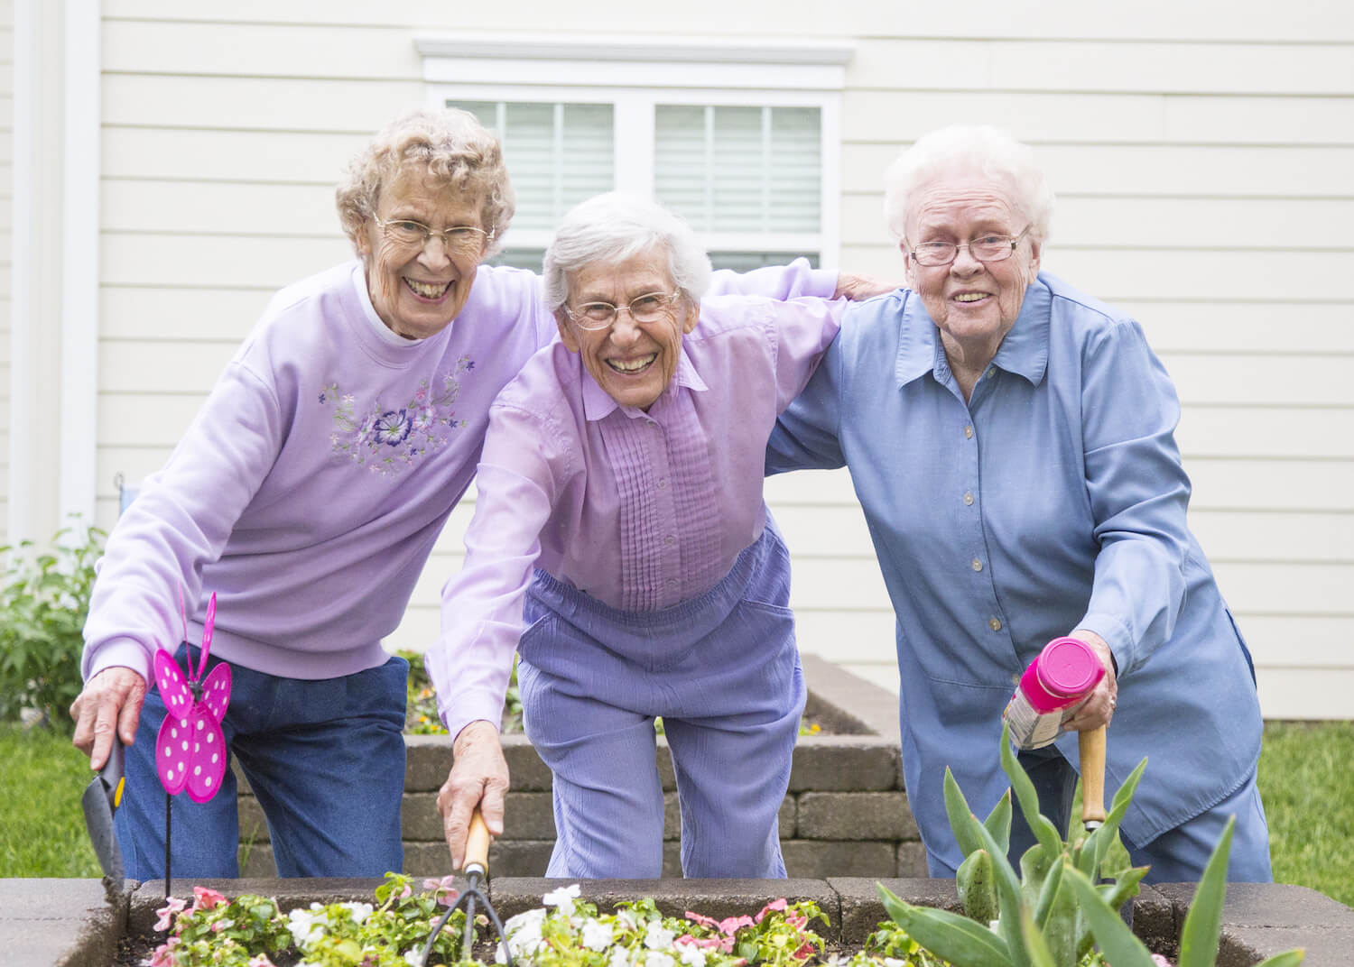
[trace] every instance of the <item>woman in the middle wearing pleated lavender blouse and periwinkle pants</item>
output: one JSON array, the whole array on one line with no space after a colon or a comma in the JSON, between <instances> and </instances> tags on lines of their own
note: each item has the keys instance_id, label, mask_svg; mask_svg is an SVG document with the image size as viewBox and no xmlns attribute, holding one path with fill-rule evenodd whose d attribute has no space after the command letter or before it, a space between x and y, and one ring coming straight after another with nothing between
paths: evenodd
<instances>
[{"instance_id":1,"label":"woman in the middle wearing pleated lavender blouse and periwinkle pants","mask_svg":"<svg viewBox=\"0 0 1354 967\"><path fill-rule=\"evenodd\" d=\"M804 682L762 461L838 304L701 300L708 280L685 225L617 195L574 208L546 253L561 339L490 407L466 564L427 655L456 736L437 805L458 866L473 807L502 811L517 651L527 736L554 772L547 876L661 874L657 715L682 871L785 875L776 814Z\"/></svg>"}]
</instances>

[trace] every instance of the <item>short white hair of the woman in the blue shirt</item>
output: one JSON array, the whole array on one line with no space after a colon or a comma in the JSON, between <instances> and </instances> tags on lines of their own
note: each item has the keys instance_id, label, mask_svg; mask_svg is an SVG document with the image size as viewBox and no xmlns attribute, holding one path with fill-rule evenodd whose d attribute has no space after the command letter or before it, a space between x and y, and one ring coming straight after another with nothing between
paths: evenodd
<instances>
[{"instance_id":1,"label":"short white hair of the woman in the blue shirt","mask_svg":"<svg viewBox=\"0 0 1354 967\"><path fill-rule=\"evenodd\" d=\"M884 173L884 222L895 239L907 229L915 192L951 176L980 174L1001 183L1011 206L1029 219L1030 239L1043 243L1053 216L1053 189L1034 151L1005 131L986 124L952 124L925 134ZM918 239L913 239L918 241Z\"/></svg>"}]
</instances>

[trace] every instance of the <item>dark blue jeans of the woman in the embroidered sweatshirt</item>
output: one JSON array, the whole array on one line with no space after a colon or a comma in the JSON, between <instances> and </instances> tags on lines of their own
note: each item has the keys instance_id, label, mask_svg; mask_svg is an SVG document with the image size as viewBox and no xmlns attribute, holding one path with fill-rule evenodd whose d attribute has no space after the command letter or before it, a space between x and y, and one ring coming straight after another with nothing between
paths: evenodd
<instances>
[{"instance_id":1,"label":"dark blue jeans of the woman in the embroidered sweatshirt","mask_svg":"<svg viewBox=\"0 0 1354 967\"><path fill-rule=\"evenodd\" d=\"M198 648L180 645L198 661ZM213 657L209 668L218 664ZM279 876L382 876L403 866L399 802L405 788L405 695L409 663L334 679L288 679L232 665L226 745L268 820ZM152 687L137 741L127 749L127 788L115 816L127 876L164 876L165 791L152 755L165 706ZM171 845L173 878L240 875L236 776L196 803L179 794ZM248 832L248 830L246 830Z\"/></svg>"}]
</instances>

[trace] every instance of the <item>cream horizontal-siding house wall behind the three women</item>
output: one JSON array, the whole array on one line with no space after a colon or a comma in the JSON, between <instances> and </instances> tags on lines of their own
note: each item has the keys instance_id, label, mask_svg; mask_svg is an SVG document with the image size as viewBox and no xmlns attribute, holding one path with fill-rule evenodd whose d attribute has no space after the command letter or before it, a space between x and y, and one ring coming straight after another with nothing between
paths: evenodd
<instances>
[{"instance_id":1,"label":"cream horizontal-siding house wall behind the three women","mask_svg":"<svg viewBox=\"0 0 1354 967\"><path fill-rule=\"evenodd\" d=\"M158 467L272 289L348 256L345 160L425 96L420 31L849 39L838 264L899 277L880 176L919 134L997 123L1059 193L1044 265L1132 310L1183 402L1192 526L1269 717L1354 687L1354 7L961 7L616 0L450 5L104 0L97 519ZM1125 19L1131 18L1128 22ZM892 621L842 473L768 484L804 651L896 682ZM436 634L460 507L391 646Z\"/></svg>"}]
</instances>

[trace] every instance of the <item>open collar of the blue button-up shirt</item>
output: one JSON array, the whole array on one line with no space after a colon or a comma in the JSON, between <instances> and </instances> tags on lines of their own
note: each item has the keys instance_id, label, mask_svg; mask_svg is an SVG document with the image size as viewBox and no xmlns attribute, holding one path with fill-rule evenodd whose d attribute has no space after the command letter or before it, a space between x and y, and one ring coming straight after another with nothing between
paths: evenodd
<instances>
[{"instance_id":1,"label":"open collar of the blue button-up shirt","mask_svg":"<svg viewBox=\"0 0 1354 967\"><path fill-rule=\"evenodd\" d=\"M1016 325L997 348L992 365L1024 376L1039 385L1048 369L1048 331L1053 293L1040 276L1025 289ZM940 342L940 330L915 292L907 293L903 321L898 335L898 385L906 385L925 373L934 373L937 381L949 375L949 362Z\"/></svg>"}]
</instances>

